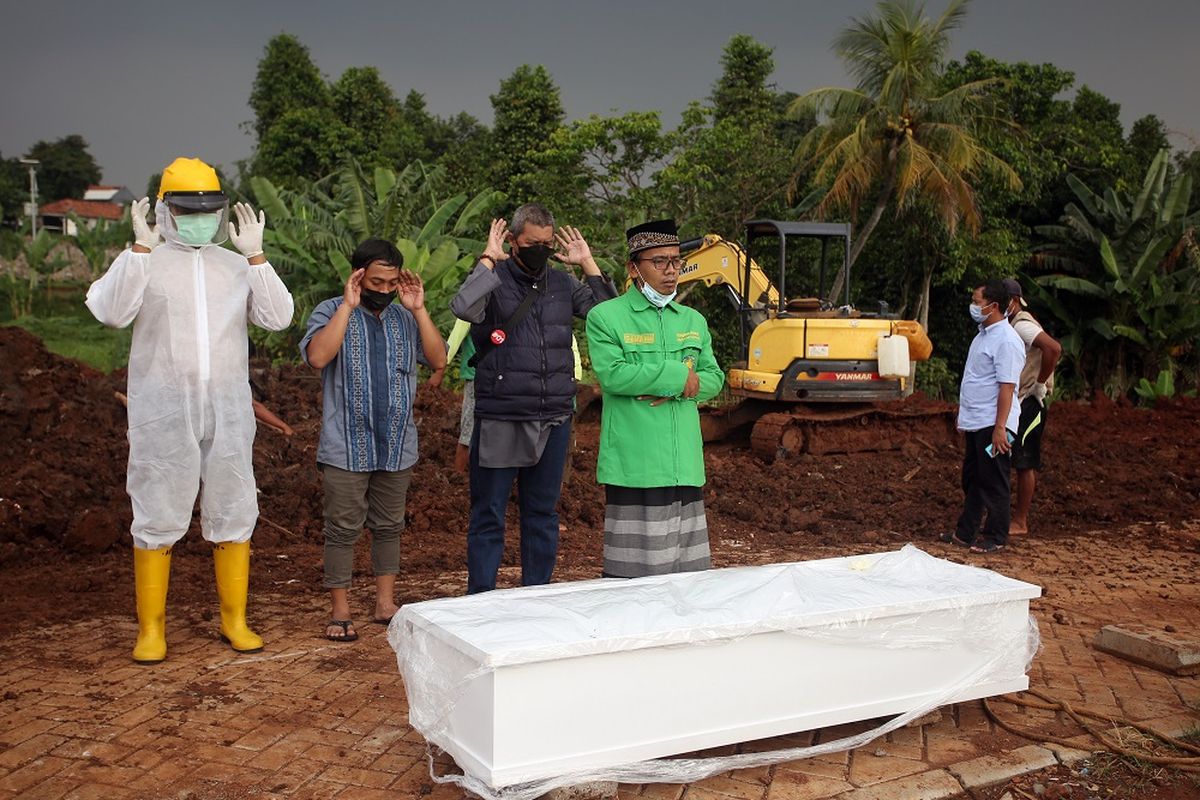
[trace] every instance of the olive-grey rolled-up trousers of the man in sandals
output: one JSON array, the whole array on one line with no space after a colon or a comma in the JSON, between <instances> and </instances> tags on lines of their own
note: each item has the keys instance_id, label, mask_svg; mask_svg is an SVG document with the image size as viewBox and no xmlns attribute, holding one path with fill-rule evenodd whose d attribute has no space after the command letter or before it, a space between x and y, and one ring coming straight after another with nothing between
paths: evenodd
<instances>
[{"instance_id":1,"label":"olive-grey rolled-up trousers of the man in sandals","mask_svg":"<svg viewBox=\"0 0 1200 800\"><path fill-rule=\"evenodd\" d=\"M354 542L371 530L374 575L400 572L400 531L413 469L350 473L320 464L325 485L325 588L348 589L354 572Z\"/></svg>"}]
</instances>

